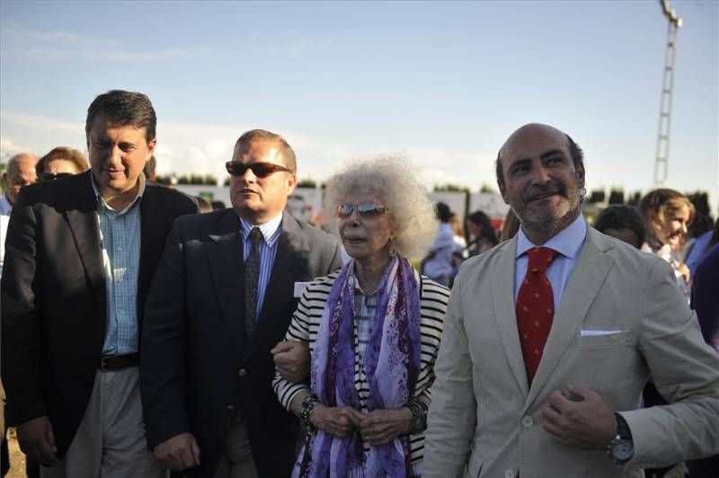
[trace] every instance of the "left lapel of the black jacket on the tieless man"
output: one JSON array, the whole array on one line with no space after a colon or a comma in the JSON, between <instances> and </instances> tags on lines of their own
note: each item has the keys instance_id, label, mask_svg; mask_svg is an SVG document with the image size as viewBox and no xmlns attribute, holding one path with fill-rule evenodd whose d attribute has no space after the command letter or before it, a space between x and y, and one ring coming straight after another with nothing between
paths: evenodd
<instances>
[{"instance_id":1,"label":"left lapel of the black jacket on the tieless man","mask_svg":"<svg viewBox=\"0 0 719 478\"><path fill-rule=\"evenodd\" d=\"M100 242L100 223L97 217L97 198L90 180L90 172L78 174L63 181L69 186L67 207L63 214L75 240L75 247L83 263L84 272L100 308L102 323L107 315L107 294L105 291L105 273L102 266L102 244Z\"/></svg>"}]
</instances>

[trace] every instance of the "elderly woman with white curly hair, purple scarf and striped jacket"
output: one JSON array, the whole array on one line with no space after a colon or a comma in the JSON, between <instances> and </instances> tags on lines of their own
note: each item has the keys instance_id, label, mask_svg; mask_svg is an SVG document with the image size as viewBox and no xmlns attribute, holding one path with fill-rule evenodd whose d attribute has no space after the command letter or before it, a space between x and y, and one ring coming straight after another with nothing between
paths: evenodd
<instances>
[{"instance_id":1,"label":"elderly woman with white curly hair, purple scarf and striped jacket","mask_svg":"<svg viewBox=\"0 0 719 478\"><path fill-rule=\"evenodd\" d=\"M422 473L449 292L409 261L437 229L415 178L409 164L384 157L351 163L327 182L325 208L351 260L306 287L287 332L311 353L309 384L279 370L274 381L306 431L293 476Z\"/></svg>"}]
</instances>

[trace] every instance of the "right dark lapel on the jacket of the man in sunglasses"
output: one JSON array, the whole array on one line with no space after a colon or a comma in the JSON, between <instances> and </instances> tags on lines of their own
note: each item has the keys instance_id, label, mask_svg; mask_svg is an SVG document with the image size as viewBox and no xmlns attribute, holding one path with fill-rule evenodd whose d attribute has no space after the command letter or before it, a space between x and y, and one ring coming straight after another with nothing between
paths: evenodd
<instances>
[{"instance_id":1,"label":"right dark lapel on the jacket of the man in sunglasses","mask_svg":"<svg viewBox=\"0 0 719 478\"><path fill-rule=\"evenodd\" d=\"M297 220L288 213L282 215L282 232L277 243L277 254L272 264L270 282L262 300L262 309L257 319L254 338L248 344L244 357L250 357L265 337L277 331L287 330L288 301L293 297L295 281L303 279L303 270L307 269L306 252L309 245L305 235L297 224ZM274 345L274 344L272 344Z\"/></svg>"}]
</instances>

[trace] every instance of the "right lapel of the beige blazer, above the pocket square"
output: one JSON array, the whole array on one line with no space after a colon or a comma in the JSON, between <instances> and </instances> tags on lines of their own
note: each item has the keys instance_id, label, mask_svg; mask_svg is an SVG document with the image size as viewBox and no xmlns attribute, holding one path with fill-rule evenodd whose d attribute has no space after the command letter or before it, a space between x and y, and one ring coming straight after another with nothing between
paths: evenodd
<instances>
[{"instance_id":1,"label":"right lapel of the beige blazer, above the pocket square","mask_svg":"<svg viewBox=\"0 0 719 478\"><path fill-rule=\"evenodd\" d=\"M607 279L609 269L614 263L614 259L605 253L610 247L609 243L601 239L599 233L587 227L587 240L564 288L562 301L556 311L552 330L549 332L542 354L542 361L539 362L537 375L529 390L525 411L537 399L580 332L581 323L584 322L590 305L597 297L599 288Z\"/></svg>"}]
</instances>

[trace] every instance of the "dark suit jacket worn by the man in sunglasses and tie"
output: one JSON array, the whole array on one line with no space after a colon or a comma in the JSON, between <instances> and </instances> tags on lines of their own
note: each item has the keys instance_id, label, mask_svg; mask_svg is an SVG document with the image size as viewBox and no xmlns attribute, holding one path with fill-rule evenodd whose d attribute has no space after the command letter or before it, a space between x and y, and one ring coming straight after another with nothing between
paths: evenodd
<instances>
[{"instance_id":1,"label":"dark suit jacket worn by the man in sunglasses and tie","mask_svg":"<svg viewBox=\"0 0 719 478\"><path fill-rule=\"evenodd\" d=\"M341 264L333 236L285 213L262 310L248 340L239 217L226 209L175 221L145 309L140 386L149 446L189 431L200 445L200 467L187 475L211 477L240 411L260 476L288 476L296 457L297 419L272 392L270 350L283 340L297 306L294 283Z\"/></svg>"}]
</instances>

